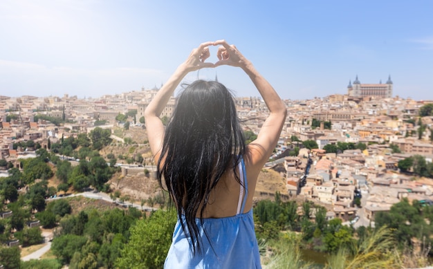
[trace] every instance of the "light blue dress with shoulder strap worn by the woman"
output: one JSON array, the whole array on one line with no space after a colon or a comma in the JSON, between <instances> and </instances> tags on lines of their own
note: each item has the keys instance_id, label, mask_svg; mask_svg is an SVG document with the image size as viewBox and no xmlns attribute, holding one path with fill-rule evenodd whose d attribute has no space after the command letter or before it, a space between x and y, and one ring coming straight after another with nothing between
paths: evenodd
<instances>
[{"instance_id":1,"label":"light blue dress with shoulder strap worn by the woman","mask_svg":"<svg viewBox=\"0 0 433 269\"><path fill-rule=\"evenodd\" d=\"M243 160L239 163L240 179L248 192L248 182ZM243 187L239 194L237 214L219 219L196 219L202 240L202 251L192 254L189 239L178 220L174 228L172 245L164 268L261 268L260 254L252 219L252 209L243 213L247 195ZM206 231L208 237L205 235Z\"/></svg>"}]
</instances>

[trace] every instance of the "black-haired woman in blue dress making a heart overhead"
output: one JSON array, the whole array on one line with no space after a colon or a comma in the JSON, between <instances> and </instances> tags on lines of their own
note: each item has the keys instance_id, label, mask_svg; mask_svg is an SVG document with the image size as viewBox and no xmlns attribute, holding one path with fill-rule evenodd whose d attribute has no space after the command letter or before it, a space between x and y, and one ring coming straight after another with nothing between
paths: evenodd
<instances>
[{"instance_id":1,"label":"black-haired woman in blue dress making a heart overhead","mask_svg":"<svg viewBox=\"0 0 433 269\"><path fill-rule=\"evenodd\" d=\"M216 63L205 62L219 46ZM159 116L183 77L200 68L240 67L270 111L257 139L245 145L230 92L218 82L193 82L181 93L164 129ZM224 40L192 50L147 106L149 145L158 180L174 200L178 222L165 268L260 268L252 219L257 176L272 154L286 106L272 86Z\"/></svg>"}]
</instances>

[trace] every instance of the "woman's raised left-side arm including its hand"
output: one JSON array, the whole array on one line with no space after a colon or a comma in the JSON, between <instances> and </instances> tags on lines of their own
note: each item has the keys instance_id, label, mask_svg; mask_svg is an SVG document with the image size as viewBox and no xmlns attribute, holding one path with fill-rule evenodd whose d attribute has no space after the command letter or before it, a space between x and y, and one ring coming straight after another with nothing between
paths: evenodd
<instances>
[{"instance_id":1,"label":"woman's raised left-side arm including its hand","mask_svg":"<svg viewBox=\"0 0 433 269\"><path fill-rule=\"evenodd\" d=\"M159 118L160 114L167 105L170 96L173 95L174 90L187 73L199 70L200 68L214 67L214 64L205 62L205 59L208 59L210 56L208 46L212 46L213 44L214 42L205 42L200 44L198 48L194 48L186 61L178 66L173 75L161 87L155 98L147 106L145 110L147 138L155 160L159 159L164 140L164 126Z\"/></svg>"}]
</instances>

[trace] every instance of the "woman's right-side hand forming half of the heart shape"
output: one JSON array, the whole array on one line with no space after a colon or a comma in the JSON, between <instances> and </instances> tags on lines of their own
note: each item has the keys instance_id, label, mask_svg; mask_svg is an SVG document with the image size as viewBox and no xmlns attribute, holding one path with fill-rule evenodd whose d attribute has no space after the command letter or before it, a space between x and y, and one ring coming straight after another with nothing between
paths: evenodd
<instances>
[{"instance_id":1,"label":"woman's right-side hand forming half of the heart shape","mask_svg":"<svg viewBox=\"0 0 433 269\"><path fill-rule=\"evenodd\" d=\"M215 67L228 65L243 68L249 63L248 59L243 57L236 46L229 45L225 40L215 41L213 45L222 45L218 48L218 52L216 53L219 61L214 64Z\"/></svg>"}]
</instances>

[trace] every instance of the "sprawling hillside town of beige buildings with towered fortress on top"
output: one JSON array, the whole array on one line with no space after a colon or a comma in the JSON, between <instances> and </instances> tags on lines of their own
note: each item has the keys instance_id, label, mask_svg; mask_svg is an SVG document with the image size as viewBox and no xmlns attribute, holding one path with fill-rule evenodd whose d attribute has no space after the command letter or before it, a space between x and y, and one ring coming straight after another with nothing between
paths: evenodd
<instances>
[{"instance_id":1,"label":"sprawling hillside town of beige buildings with towered fortress on top","mask_svg":"<svg viewBox=\"0 0 433 269\"><path fill-rule=\"evenodd\" d=\"M366 226L374 225L377 212L388 211L402 198L433 203L433 178L418 177L411 168L403 173L398 165L415 155L432 163L433 117L420 117L419 110L433 100L393 97L392 86L391 77L385 84L361 84L357 76L342 89L345 94L285 100L286 124L265 167L282 168L277 169L286 185L282 197L313 201L326 207L329 219ZM95 122L102 129L125 124L144 129L143 113L157 92L156 87L142 88L84 99L67 94L0 96L0 159L19 168L19 159L33 149L15 146L18 142L31 140L49 150L51 143L90 133ZM257 134L267 115L263 100L238 97L235 102L245 130ZM169 119L175 105L172 97L162 116ZM126 122L116 119L131 111L133 117ZM149 164L142 160L142 165ZM6 169L0 167L1 176L8 176Z\"/></svg>"}]
</instances>

